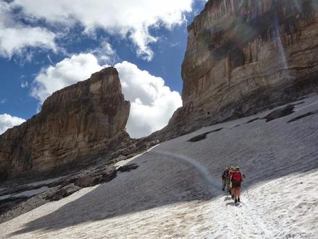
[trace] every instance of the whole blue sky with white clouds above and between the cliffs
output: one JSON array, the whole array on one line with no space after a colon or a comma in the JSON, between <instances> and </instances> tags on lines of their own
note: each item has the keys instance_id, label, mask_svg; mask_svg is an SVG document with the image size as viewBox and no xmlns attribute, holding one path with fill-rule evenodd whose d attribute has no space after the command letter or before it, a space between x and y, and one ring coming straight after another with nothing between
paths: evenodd
<instances>
[{"instance_id":1,"label":"whole blue sky with white clouds above and between the cliffs","mask_svg":"<svg viewBox=\"0 0 318 239\"><path fill-rule=\"evenodd\" d=\"M140 138L182 106L186 26L206 0L0 0L0 134L54 91L114 66Z\"/></svg>"}]
</instances>

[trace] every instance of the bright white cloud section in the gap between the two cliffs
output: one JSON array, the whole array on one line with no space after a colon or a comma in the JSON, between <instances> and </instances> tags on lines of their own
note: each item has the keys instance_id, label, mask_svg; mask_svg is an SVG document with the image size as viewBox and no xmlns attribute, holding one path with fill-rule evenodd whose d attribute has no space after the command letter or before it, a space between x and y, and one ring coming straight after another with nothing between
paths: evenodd
<instances>
[{"instance_id":1,"label":"bright white cloud section in the gap between the two cliffs","mask_svg":"<svg viewBox=\"0 0 318 239\"><path fill-rule=\"evenodd\" d=\"M123 94L131 103L126 126L130 136L148 136L166 126L173 112L182 106L180 94L165 86L164 79L141 71L135 64L121 62L115 67L121 78Z\"/></svg>"}]
</instances>

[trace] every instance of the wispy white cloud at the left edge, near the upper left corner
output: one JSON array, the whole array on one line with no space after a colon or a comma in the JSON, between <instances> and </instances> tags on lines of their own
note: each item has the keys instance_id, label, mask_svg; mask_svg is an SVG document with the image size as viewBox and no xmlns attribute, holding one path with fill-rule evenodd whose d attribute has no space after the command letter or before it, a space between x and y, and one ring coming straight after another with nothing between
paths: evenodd
<instances>
[{"instance_id":1,"label":"wispy white cloud at the left edge, near the upper left corner","mask_svg":"<svg viewBox=\"0 0 318 239\"><path fill-rule=\"evenodd\" d=\"M56 51L55 33L45 28L30 27L15 22L12 6L6 1L0 2L0 55L12 57L20 54L26 47L48 48Z\"/></svg>"}]
</instances>

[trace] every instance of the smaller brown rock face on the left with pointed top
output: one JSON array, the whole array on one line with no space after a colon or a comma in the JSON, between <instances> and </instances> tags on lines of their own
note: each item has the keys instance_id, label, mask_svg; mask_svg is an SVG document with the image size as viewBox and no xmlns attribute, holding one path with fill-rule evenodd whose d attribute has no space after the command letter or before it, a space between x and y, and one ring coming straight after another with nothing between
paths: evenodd
<instances>
[{"instance_id":1,"label":"smaller brown rock face on the left with pointed top","mask_svg":"<svg viewBox=\"0 0 318 239\"><path fill-rule=\"evenodd\" d=\"M112 67L56 91L39 114L1 134L1 179L85 166L130 139L129 112Z\"/></svg>"}]
</instances>

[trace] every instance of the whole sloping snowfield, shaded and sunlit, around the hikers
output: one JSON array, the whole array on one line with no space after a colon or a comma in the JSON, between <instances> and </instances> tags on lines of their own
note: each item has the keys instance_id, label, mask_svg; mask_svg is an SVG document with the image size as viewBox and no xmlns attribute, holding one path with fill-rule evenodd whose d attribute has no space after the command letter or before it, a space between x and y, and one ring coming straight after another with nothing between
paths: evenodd
<instances>
[{"instance_id":1,"label":"whole sloping snowfield, shaded and sunlit, around the hikers","mask_svg":"<svg viewBox=\"0 0 318 239\"><path fill-rule=\"evenodd\" d=\"M274 121L247 123L271 110L161 143L127 161L136 170L5 222L0 236L318 238L318 96L296 103ZM231 165L246 176L238 205L220 189Z\"/></svg>"}]
</instances>

